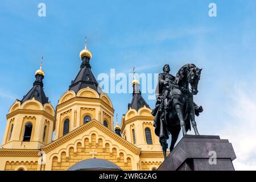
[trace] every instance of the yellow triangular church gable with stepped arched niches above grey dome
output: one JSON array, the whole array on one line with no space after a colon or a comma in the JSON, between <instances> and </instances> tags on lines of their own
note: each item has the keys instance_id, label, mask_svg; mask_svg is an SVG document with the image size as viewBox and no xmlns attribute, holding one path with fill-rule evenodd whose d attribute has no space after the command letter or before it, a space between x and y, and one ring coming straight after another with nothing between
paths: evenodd
<instances>
[{"instance_id":1,"label":"yellow triangular church gable with stepped arched niches above grey dome","mask_svg":"<svg viewBox=\"0 0 256 182\"><path fill-rule=\"evenodd\" d=\"M85 159L105 159L123 170L133 169L141 150L95 119L42 147L46 152L46 170L67 170ZM133 164L134 165L134 164Z\"/></svg>"}]
</instances>

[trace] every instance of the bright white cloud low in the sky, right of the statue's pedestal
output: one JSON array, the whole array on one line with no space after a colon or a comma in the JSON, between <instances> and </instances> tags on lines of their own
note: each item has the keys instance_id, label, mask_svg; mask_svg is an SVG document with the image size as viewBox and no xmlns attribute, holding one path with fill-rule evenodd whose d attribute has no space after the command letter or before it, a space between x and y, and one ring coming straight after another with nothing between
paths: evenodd
<instances>
[{"instance_id":1,"label":"bright white cloud low in the sky, right of the statue's pedestal","mask_svg":"<svg viewBox=\"0 0 256 182\"><path fill-rule=\"evenodd\" d=\"M219 134L233 145L237 156L233 161L236 170L256 170L256 96L247 91L255 89L236 84L231 90L226 114L232 119L225 119Z\"/></svg>"}]
</instances>

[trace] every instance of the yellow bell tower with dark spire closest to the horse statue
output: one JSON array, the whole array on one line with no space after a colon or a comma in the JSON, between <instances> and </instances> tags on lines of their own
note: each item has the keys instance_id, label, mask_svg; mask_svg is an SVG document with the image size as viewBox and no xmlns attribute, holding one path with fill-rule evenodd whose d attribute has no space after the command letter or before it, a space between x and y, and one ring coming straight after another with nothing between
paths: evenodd
<instances>
[{"instance_id":1,"label":"yellow bell tower with dark spire closest to the horse statue","mask_svg":"<svg viewBox=\"0 0 256 182\"><path fill-rule=\"evenodd\" d=\"M154 116L151 114L150 106L141 95L139 81L135 78L135 68L133 73L133 98L128 104L126 114L122 117L122 136L144 151L161 151L159 138L154 134Z\"/></svg>"}]
</instances>

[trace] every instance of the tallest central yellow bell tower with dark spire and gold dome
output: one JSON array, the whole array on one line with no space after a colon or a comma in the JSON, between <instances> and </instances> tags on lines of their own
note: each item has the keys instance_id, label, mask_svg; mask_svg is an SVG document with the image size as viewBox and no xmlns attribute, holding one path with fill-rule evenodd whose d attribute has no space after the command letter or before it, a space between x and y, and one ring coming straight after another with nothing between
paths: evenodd
<instances>
[{"instance_id":1,"label":"tallest central yellow bell tower with dark spire and gold dome","mask_svg":"<svg viewBox=\"0 0 256 182\"><path fill-rule=\"evenodd\" d=\"M92 53L85 47L80 52L80 70L69 89L60 97L56 107L55 140L96 119L114 130L114 109L107 94L103 93L94 77L90 60Z\"/></svg>"}]
</instances>

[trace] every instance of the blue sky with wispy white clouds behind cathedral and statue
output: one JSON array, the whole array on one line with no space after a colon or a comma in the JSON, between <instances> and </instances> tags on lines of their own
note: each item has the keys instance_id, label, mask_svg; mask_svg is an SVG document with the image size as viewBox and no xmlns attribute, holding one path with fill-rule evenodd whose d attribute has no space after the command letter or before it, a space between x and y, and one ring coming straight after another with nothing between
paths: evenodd
<instances>
[{"instance_id":1,"label":"blue sky with wispy white clouds behind cathedral and statue","mask_svg":"<svg viewBox=\"0 0 256 182\"><path fill-rule=\"evenodd\" d=\"M38 3L46 3L46 17ZM217 5L217 17L208 5ZM94 76L203 68L195 101L200 134L232 142L236 169L256 169L256 2L247 1L0 1L0 140L6 114L34 82L44 55L44 90L55 107L79 71L88 38ZM129 83L129 86L130 83ZM131 94L109 94L119 118ZM147 94L143 95L147 99ZM122 102L120 102L122 101ZM155 101L148 100L151 108Z\"/></svg>"}]
</instances>

